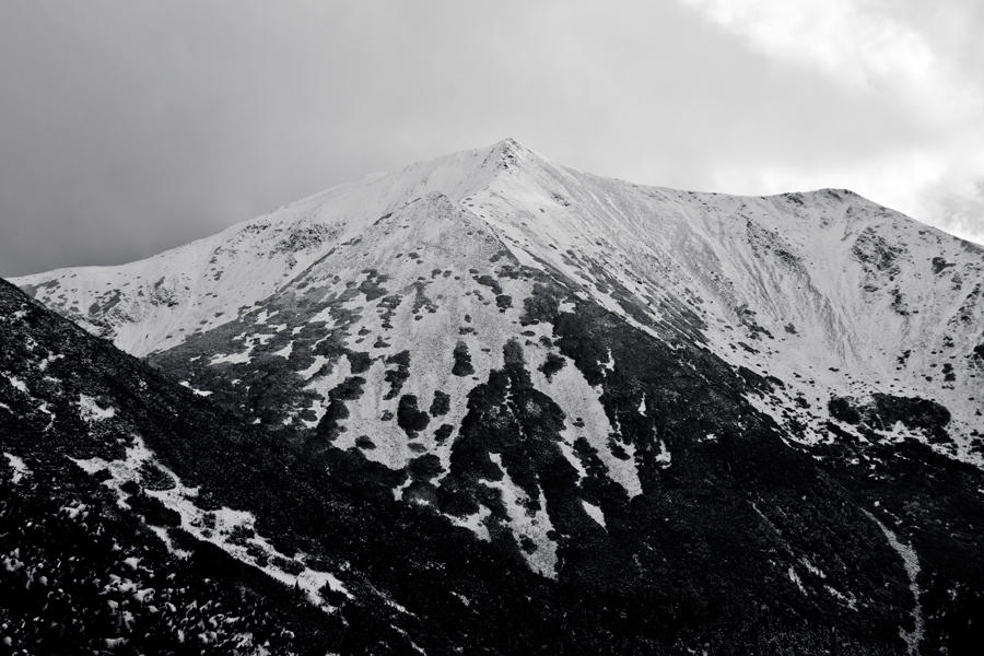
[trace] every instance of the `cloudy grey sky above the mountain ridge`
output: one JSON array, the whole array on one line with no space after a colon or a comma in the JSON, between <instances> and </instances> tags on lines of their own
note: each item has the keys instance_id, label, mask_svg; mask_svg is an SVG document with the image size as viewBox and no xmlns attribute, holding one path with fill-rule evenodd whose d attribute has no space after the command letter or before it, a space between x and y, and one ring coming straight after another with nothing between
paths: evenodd
<instances>
[{"instance_id":1,"label":"cloudy grey sky above the mountain ridge","mask_svg":"<svg viewBox=\"0 0 984 656\"><path fill-rule=\"evenodd\" d=\"M0 276L506 137L643 185L848 188L984 243L982 33L980 0L11 0Z\"/></svg>"}]
</instances>

